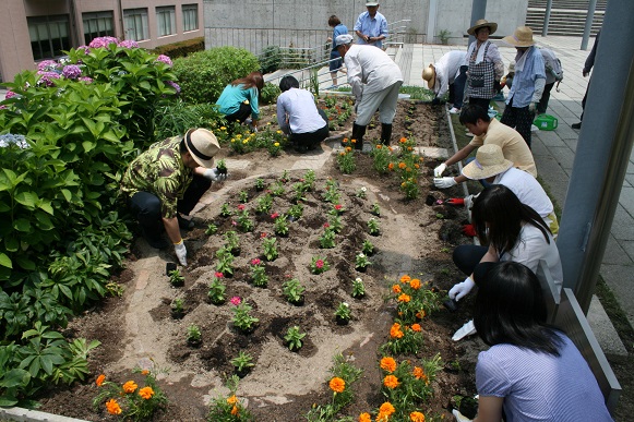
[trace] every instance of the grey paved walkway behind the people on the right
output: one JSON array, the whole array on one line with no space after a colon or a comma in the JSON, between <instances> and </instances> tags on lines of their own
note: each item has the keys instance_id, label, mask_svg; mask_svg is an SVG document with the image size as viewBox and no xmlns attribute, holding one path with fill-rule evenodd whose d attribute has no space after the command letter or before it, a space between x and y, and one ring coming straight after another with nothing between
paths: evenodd
<instances>
[{"instance_id":1,"label":"grey paved walkway behind the people on the right","mask_svg":"<svg viewBox=\"0 0 634 422\"><path fill-rule=\"evenodd\" d=\"M594 38L588 43L588 50L579 49L581 37L536 36L538 46L552 49L560 58L564 69L564 80L560 85L561 92L552 89L547 113L559 119L555 131L533 132L533 154L537 162L538 171L543 182L559 205L563 207L570 174L575 158L575 149L579 131L571 128L571 124L579 121L582 113L582 98L586 92L588 79L583 77L584 67ZM500 52L506 65L514 60L515 49L503 43L498 43ZM411 63L407 64L410 72L405 75L405 84L423 85L421 79L422 69L434 63L444 53L451 50L466 50L466 46L440 46L440 45L412 45ZM404 67L405 68L405 67ZM505 91L506 92L506 91ZM634 289L632 289L632 272L634 270L634 153L630 156L630 165L619 206L614 215L614 221L610 239L603 255L603 264L600 274L614 292L621 309L626 313L630 324L634 326ZM608 333L613 327L605 327L607 319L598 301L594 300L588 313L588 319L597 335L603 350L610 354L625 352L623 345L612 345L613 335ZM601 338L605 335L605 338ZM612 349L613 347L613 349Z\"/></svg>"}]
</instances>

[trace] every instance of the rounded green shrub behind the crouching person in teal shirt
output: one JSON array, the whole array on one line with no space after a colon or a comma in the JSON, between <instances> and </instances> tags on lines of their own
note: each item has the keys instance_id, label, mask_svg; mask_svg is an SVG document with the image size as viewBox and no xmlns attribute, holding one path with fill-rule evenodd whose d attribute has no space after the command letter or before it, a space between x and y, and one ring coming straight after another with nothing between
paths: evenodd
<instances>
[{"instance_id":1,"label":"rounded green shrub behind the crouching person in teal shirt","mask_svg":"<svg viewBox=\"0 0 634 422\"><path fill-rule=\"evenodd\" d=\"M194 52L174 63L181 97L193 104L216 103L227 84L259 69L255 56L235 47Z\"/></svg>"}]
</instances>

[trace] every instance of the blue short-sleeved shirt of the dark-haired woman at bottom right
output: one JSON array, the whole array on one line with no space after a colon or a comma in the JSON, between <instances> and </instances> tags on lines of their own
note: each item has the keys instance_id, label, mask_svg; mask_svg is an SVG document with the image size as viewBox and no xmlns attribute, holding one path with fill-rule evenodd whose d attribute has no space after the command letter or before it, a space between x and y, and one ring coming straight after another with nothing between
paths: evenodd
<instances>
[{"instance_id":1,"label":"blue short-sleeved shirt of the dark-haired woman at bottom right","mask_svg":"<svg viewBox=\"0 0 634 422\"><path fill-rule=\"evenodd\" d=\"M506 422L612 421L584 357L561 338L559 357L507 343L478 355L478 394L503 397Z\"/></svg>"}]
</instances>

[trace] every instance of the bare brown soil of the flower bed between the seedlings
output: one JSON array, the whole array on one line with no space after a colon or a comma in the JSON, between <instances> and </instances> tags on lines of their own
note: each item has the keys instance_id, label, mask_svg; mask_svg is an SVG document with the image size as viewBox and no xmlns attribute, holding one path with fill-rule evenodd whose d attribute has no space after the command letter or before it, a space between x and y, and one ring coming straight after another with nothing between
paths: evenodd
<instances>
[{"instance_id":1,"label":"bare brown soil of the flower bed between the seedlings","mask_svg":"<svg viewBox=\"0 0 634 422\"><path fill-rule=\"evenodd\" d=\"M410 107L412 107L410 109ZM408 117L411 123L405 124ZM350 123L351 125L351 123ZM368 138L379 137L379 128L370 128ZM399 104L394 122L393 138L411 135L418 146L450 148L451 140L444 112L441 108L427 105ZM327 153L330 148L324 146ZM316 152L315 155L323 154ZM135 364L147 363L151 358L158 365L169 366L169 375L159 378L169 406L156 421L204 420L211 398L226 394L224 377L234 373L230 359L238 351L253 355L255 366L241 379L238 396L248 400L248 408L256 421L300 421L314 403L327 403L327 369L335 353L343 353L356 366L363 369L361 381L355 386L356 400L343 415L357 418L383 402L380 393L381 374L378 369L379 347L386 341L395 312L384 299L388 286L403 274L409 274L446 291L462 280L451 261L451 251L456 244L469 242L460 233L460 224L466 218L462 209L442 205L426 205L428 195L436 198L459 195L457 188L433 190L432 169L438 164L424 161L420 177L421 194L414 201L405 201L399 192L399 180L394 176L378 177L368 155L358 155L357 170L351 176L342 174L331 155L325 165L315 170L315 189L307 193L304 214L299 221L290 224L287 238L277 238L279 257L266 263L270 282L266 288L250 284L249 261L262 257L261 233L271 236L273 221L267 215L254 216L253 232L239 232L240 256L236 258L235 274L227 278L228 298L239 296L253 305L253 314L260 322L251 334L241 334L232 327L231 304L214 305L207 301L207 285L215 270L215 252L224 244L223 233L236 230L231 218L219 216L223 203L236 209L238 193L247 191L252 209L258 197L253 183L261 177L271 185L279 180L280 169L289 169L286 194L276 196L274 212L285 213L291 205L292 184L303 177L306 170L291 170L304 158L295 153L284 153L271 158L264 153L229 156L230 159L250 160L243 170L232 171L224 186L213 188L213 201L194 216L196 227L186 233L190 264L184 269L186 284L171 288L165 276L165 261L174 261L171 251L158 256L143 241L137 241L128 267L113 279L125 287L122 298L109 298L73 321L64 333L70 338L98 339L101 346L89 355L92 376L85 383L71 387L58 386L45 391L39 400L43 411L91 421L112 420L105 411L95 412L92 399L96 395L94 379L106 373L108 379L123 383L130 378ZM327 221L332 204L323 201L324 185L332 178L338 183L342 204L343 231L337 236L334 249L320 249L319 237ZM356 193L361 186L368 189L368 197L361 200ZM372 215L370 207L379 203L382 233L369 237L367 221ZM442 216L442 218L441 218ZM204 233L207 224L215 222L218 233ZM364 239L376 248L367 273L355 270L355 254L360 251ZM313 256L325 257L331 269L322 275L312 275L308 265ZM297 277L307 288L306 303L295 306L282 294L282 282L288 276ZM368 294L361 300L350 297L351 280L361 277ZM147 280L144 287L141 280ZM142 300L139 300L139 296ZM181 319L170 315L170 303L182 298L187 314ZM350 303L352 319L340 326L335 323L334 311L339 302ZM483 348L479 340L469 338L458 343L451 340L452 334L469 318L469 299L460 302L458 311L440 311L426 318L424 349L418 355L402 357L414 361L440 353L446 364L434 382L434 396L421 406L430 414L445 414L452 397L456 394L474 394L474 367L477 352ZM190 347L184 330L196 324L203 333L200 347ZM294 325L307 333L304 346L298 352L289 351L283 336ZM136 327L136 330L131 329ZM459 369L459 370L458 370Z\"/></svg>"}]
</instances>

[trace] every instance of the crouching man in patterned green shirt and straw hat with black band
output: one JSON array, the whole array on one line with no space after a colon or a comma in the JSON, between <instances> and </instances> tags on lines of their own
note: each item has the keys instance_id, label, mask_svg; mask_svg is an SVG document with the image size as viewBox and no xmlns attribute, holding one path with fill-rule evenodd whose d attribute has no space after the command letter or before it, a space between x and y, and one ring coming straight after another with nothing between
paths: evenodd
<instances>
[{"instance_id":1,"label":"crouching man in patterned green shirt and straw hat with black band","mask_svg":"<svg viewBox=\"0 0 634 422\"><path fill-rule=\"evenodd\" d=\"M157 249L174 244L181 265L187 265L187 249L179 228L191 229L189 215L212 182L223 181L212 168L220 146L206 129L190 129L184 136L169 137L153 144L128 167L121 181L121 193L137 219L143 238Z\"/></svg>"}]
</instances>

